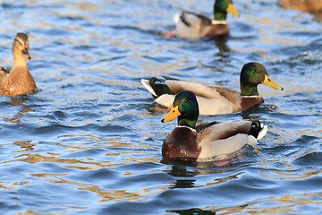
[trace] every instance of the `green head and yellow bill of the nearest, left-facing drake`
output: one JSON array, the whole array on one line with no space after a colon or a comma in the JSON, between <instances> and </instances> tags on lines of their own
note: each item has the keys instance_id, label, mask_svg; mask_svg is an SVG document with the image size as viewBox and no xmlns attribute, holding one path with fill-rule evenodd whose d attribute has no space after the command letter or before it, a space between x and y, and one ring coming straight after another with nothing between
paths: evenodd
<instances>
[{"instance_id":1,"label":"green head and yellow bill of the nearest, left-facing drake","mask_svg":"<svg viewBox=\"0 0 322 215\"><path fill-rule=\"evenodd\" d=\"M191 91L182 91L175 96L173 107L161 122L170 122L178 117L178 125L195 128L198 116L199 106L196 96Z\"/></svg>"}]
</instances>

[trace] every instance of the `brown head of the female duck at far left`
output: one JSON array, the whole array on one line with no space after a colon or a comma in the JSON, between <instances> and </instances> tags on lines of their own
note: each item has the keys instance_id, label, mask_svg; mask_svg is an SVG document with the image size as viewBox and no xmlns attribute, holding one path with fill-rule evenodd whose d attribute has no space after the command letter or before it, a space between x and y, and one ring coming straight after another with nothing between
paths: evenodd
<instances>
[{"instance_id":1,"label":"brown head of the female duck at far left","mask_svg":"<svg viewBox=\"0 0 322 215\"><path fill-rule=\"evenodd\" d=\"M25 33L17 33L13 40L13 56L23 56L25 60L30 60L28 35Z\"/></svg>"}]
</instances>

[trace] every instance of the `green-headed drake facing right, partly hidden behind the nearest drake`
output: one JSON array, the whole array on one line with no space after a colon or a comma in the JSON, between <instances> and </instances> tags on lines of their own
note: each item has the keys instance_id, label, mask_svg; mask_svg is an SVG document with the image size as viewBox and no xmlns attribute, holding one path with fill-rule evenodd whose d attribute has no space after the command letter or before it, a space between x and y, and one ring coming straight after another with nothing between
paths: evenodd
<instances>
[{"instance_id":1,"label":"green-headed drake facing right, partly hidden behind the nearest drake","mask_svg":"<svg viewBox=\"0 0 322 215\"><path fill-rule=\"evenodd\" d=\"M241 92L229 90L215 85L204 85L194 82L165 80L165 84L157 83L157 78L149 81L142 79L143 86L154 96L157 104L171 107L174 103L174 94L183 90L191 90L199 103L200 115L221 115L247 110L264 102L258 94L257 86L264 83L276 90L283 90L268 76L262 64L244 64L241 72Z\"/></svg>"}]
</instances>

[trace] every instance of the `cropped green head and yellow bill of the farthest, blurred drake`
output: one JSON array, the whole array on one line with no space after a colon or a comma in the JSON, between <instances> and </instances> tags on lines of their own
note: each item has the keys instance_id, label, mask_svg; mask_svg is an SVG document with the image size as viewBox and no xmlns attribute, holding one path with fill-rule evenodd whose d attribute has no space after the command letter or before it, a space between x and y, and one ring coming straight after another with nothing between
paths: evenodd
<instances>
[{"instance_id":1,"label":"cropped green head and yellow bill of the farthest, blurred drake","mask_svg":"<svg viewBox=\"0 0 322 215\"><path fill-rule=\"evenodd\" d=\"M214 4L214 17L216 21L225 21L227 13L239 16L239 13L233 7L232 0L216 0Z\"/></svg>"}]
</instances>

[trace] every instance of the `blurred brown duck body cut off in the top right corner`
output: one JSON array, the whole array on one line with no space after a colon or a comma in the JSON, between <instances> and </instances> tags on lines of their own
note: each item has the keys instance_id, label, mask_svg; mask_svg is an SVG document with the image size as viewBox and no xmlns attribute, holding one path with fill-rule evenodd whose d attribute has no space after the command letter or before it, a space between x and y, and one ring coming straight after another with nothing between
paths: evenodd
<instances>
[{"instance_id":1,"label":"blurred brown duck body cut off in the top right corner","mask_svg":"<svg viewBox=\"0 0 322 215\"><path fill-rule=\"evenodd\" d=\"M287 9L301 12L312 12L322 10L321 0L279 0L278 4Z\"/></svg>"}]
</instances>

